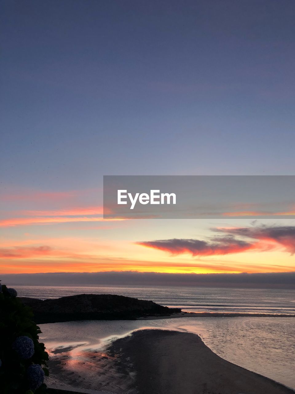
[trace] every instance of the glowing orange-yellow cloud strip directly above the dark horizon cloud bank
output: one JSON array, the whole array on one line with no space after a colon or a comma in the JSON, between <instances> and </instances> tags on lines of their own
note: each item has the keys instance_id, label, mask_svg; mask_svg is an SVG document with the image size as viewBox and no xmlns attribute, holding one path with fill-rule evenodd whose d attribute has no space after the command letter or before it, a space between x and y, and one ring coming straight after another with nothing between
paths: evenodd
<instances>
[{"instance_id":1,"label":"glowing orange-yellow cloud strip directly above the dark horizon cloud bank","mask_svg":"<svg viewBox=\"0 0 295 394\"><path fill-rule=\"evenodd\" d=\"M32 251L34 253L34 251ZM36 254L38 251L36 251ZM48 250L48 255L54 254L55 251ZM63 252L56 251L56 254L63 254ZM46 251L44 250L44 256ZM42 250L40 250L39 257L42 257ZM1 272L4 273L36 273L36 272L98 272L98 271L138 271L138 272L166 272L166 273L255 273L255 272L282 272L294 271L294 268L284 265L272 264L255 264L249 266L246 263L221 264L219 261L203 261L192 260L189 262L157 262L157 261L143 261L143 260L128 260L125 258L105 256L87 256L76 255L56 257L46 259L31 257L13 258L9 259L9 265L3 266Z\"/></svg>"}]
</instances>

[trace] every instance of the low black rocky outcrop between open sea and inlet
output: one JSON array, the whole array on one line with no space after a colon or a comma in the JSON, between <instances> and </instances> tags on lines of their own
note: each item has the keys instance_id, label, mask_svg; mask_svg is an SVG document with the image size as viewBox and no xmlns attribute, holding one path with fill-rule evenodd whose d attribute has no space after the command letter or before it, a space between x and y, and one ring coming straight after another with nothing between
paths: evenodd
<instances>
[{"instance_id":1,"label":"low black rocky outcrop between open sea and inlet","mask_svg":"<svg viewBox=\"0 0 295 394\"><path fill-rule=\"evenodd\" d=\"M131 320L181 312L179 308L163 307L153 301L112 294L79 294L45 300L20 297L20 300L33 309L37 324L73 320Z\"/></svg>"}]
</instances>

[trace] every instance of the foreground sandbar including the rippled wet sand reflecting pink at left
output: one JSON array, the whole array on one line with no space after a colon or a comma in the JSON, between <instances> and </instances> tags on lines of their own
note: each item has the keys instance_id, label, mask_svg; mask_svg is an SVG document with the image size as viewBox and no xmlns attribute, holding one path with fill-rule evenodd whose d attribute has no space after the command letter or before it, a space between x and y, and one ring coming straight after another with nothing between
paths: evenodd
<instances>
[{"instance_id":1,"label":"foreground sandbar including the rippled wet sand reflecting pink at left","mask_svg":"<svg viewBox=\"0 0 295 394\"><path fill-rule=\"evenodd\" d=\"M79 350L79 346L52 349L48 393L295 393L271 379L272 375L251 372L254 359L246 368L238 366L218 356L192 332L143 328L114 337L100 348L89 344Z\"/></svg>"}]
</instances>

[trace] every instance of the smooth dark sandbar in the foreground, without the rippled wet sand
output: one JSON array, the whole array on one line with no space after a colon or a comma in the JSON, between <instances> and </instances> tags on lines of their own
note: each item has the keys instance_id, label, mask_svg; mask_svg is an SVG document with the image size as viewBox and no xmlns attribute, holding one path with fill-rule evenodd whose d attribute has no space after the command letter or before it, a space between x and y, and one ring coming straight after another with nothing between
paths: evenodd
<instances>
[{"instance_id":1,"label":"smooth dark sandbar in the foreground, without the rippled wet sand","mask_svg":"<svg viewBox=\"0 0 295 394\"><path fill-rule=\"evenodd\" d=\"M114 341L108 353L139 393L282 394L294 391L225 361L192 333L140 330Z\"/></svg>"}]
</instances>

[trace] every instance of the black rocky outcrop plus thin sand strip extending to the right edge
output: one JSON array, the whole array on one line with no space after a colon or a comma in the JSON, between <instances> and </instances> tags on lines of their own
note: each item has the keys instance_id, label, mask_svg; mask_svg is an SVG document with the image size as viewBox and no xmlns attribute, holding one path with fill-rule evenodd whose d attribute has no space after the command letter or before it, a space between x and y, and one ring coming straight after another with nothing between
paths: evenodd
<instances>
[{"instance_id":1,"label":"black rocky outcrop plus thin sand strip extending to the right edge","mask_svg":"<svg viewBox=\"0 0 295 394\"><path fill-rule=\"evenodd\" d=\"M153 301L115 294L77 294L56 299L19 297L31 307L37 324L77 320L157 320L183 317L288 317L295 314L265 312L188 312Z\"/></svg>"}]
</instances>

